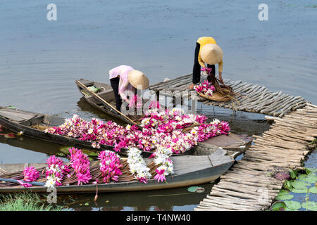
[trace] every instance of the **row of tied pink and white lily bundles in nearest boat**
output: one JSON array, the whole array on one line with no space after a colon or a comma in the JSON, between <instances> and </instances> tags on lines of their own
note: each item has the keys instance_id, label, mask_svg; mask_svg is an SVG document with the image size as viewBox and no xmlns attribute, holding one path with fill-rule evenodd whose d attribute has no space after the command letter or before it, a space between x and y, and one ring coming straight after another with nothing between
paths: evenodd
<instances>
[{"instance_id":1,"label":"row of tied pink and white lily bundles in nearest boat","mask_svg":"<svg viewBox=\"0 0 317 225\"><path fill-rule=\"evenodd\" d=\"M64 164L63 160L52 155L46 160L46 167L39 173L33 166L25 167L22 175L12 177L19 179L21 186L29 188L29 182L45 180L45 186L71 184L108 184L118 181L137 180L147 184L152 177L158 182L166 180L167 175L173 174L173 162L169 159L170 151L160 148L154 161L146 164L142 158L142 151L138 148L128 150L128 158L120 158L113 151L104 150L98 154L99 163L91 163L88 156L77 148L69 148L70 162ZM45 176L45 177L44 177ZM23 179L21 179L23 177Z\"/></svg>"}]
</instances>

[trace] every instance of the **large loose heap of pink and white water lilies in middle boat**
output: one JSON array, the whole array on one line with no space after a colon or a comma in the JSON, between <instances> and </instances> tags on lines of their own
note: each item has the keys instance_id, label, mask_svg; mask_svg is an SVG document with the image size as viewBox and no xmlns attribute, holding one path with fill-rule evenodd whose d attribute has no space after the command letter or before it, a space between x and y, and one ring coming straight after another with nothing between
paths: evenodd
<instances>
[{"instance_id":1,"label":"large loose heap of pink and white water lilies in middle boat","mask_svg":"<svg viewBox=\"0 0 317 225\"><path fill-rule=\"evenodd\" d=\"M61 126L51 127L46 132L91 141L94 148L100 148L101 144L114 146L116 151L121 148L150 151L164 147L177 154L197 145L197 141L205 141L230 131L228 122L213 120L204 124L207 120L204 115L186 115L178 108L163 110L157 106L159 104L150 105L141 121L142 129L130 124L123 127L116 122L103 122L95 118L88 122L74 115ZM184 131L191 126L194 128Z\"/></svg>"}]
</instances>

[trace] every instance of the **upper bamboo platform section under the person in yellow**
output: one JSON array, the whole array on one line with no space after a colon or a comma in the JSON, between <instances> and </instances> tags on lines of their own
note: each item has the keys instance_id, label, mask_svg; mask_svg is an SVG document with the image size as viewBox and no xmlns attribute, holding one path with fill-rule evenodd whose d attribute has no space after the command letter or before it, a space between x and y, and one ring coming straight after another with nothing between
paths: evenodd
<instances>
[{"instance_id":1,"label":"upper bamboo platform section under the person in yellow","mask_svg":"<svg viewBox=\"0 0 317 225\"><path fill-rule=\"evenodd\" d=\"M268 91L265 86L248 84L241 80L235 82L223 79L223 81L226 85L231 86L235 93L240 94L237 97L239 103L235 102L235 104L232 104L231 101L210 101L201 96L197 96L197 101L201 101L205 105L219 106L235 111L261 113L274 117L282 117L290 111L303 108L306 105L306 101L302 96L290 96L289 94L282 94L281 91ZM149 86L149 90L159 92L160 95L169 95L167 93L171 92L173 94L175 91L189 91L188 86L190 84L192 84L192 74L176 77L167 82L153 84Z\"/></svg>"}]
</instances>

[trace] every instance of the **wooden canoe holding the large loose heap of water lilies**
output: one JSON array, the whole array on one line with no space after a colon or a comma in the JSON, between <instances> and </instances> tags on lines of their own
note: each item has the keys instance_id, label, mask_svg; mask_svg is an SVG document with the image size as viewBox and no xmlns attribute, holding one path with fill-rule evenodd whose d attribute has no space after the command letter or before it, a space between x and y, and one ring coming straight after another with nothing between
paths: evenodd
<instances>
[{"instance_id":1,"label":"wooden canoe holding the large loose heap of water lilies","mask_svg":"<svg viewBox=\"0 0 317 225\"><path fill-rule=\"evenodd\" d=\"M42 113L31 113L24 110L17 110L12 108L0 107L0 124L6 129L15 133L23 131L24 136L39 139L42 141L50 141L58 143L63 146L73 146L76 148L92 148L92 143L89 141L80 141L68 136L61 136L58 134L45 133L43 129L37 129L38 126L42 127L57 127L63 124L65 118L56 117L54 115L46 115ZM235 134L216 136L204 142L199 142L198 145L189 151L192 155L208 155L218 147L227 150L233 150L239 154L244 153L245 150L251 145L250 140L244 140L242 136ZM113 146L100 145L98 150L113 150ZM126 155L127 149L121 149L120 155ZM143 152L144 156L150 155L152 152Z\"/></svg>"}]
</instances>

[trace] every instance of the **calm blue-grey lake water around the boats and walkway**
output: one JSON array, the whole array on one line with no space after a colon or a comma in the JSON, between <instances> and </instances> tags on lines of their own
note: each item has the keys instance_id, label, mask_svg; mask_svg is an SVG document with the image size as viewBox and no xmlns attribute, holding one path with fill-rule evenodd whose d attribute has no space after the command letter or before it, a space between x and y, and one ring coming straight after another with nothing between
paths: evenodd
<instances>
[{"instance_id":1,"label":"calm blue-grey lake water around the boats and walkway","mask_svg":"<svg viewBox=\"0 0 317 225\"><path fill-rule=\"evenodd\" d=\"M46 4L57 20L46 20ZM317 103L316 1L1 1L0 105L23 110L101 117L80 101L75 79L108 83L120 64L143 71L150 84L192 72L195 41L212 36L224 51L223 77L262 84ZM218 68L216 68L218 71ZM199 107L230 122L236 134L261 134L263 115ZM57 144L22 137L0 139L0 162L44 162ZM316 167L316 154L307 162ZM205 193L168 191L73 196L79 210L193 210ZM84 204L88 202L89 206ZM67 199L66 199L67 201ZM108 201L108 202L107 202ZM69 203L73 203L68 200ZM82 204L82 206L80 205Z\"/></svg>"}]
</instances>

